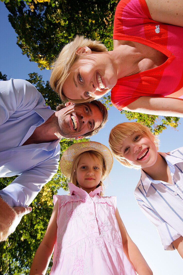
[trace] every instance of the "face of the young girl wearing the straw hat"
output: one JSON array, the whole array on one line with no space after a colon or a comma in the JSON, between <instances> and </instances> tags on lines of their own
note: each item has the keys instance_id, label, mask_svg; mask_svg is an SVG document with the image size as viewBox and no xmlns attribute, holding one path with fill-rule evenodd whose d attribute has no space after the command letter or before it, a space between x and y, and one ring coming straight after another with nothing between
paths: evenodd
<instances>
[{"instance_id":1,"label":"face of the young girl wearing the straw hat","mask_svg":"<svg viewBox=\"0 0 183 275\"><path fill-rule=\"evenodd\" d=\"M101 162L95 155L93 155L93 158L88 154L83 155L77 165L76 176L79 188L82 188L89 194L95 190L101 180Z\"/></svg>"}]
</instances>

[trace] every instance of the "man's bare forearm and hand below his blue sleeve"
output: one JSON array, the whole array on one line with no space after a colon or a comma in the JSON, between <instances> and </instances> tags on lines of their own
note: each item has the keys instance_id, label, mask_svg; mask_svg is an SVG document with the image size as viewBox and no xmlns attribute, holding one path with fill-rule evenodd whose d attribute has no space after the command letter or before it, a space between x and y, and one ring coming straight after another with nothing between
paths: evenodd
<instances>
[{"instance_id":1,"label":"man's bare forearm and hand below his blue sleeve","mask_svg":"<svg viewBox=\"0 0 183 275\"><path fill-rule=\"evenodd\" d=\"M21 221L21 218L30 213L31 207L10 207L0 197L0 241L5 241L13 233Z\"/></svg>"}]
</instances>

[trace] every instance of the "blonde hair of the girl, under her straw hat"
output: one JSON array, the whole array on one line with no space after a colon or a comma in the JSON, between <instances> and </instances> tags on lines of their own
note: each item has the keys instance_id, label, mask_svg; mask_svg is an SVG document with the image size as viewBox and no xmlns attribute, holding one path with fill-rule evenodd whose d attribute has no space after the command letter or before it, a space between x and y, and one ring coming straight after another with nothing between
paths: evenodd
<instances>
[{"instance_id":1,"label":"blonde hair of the girl, under her straw hat","mask_svg":"<svg viewBox=\"0 0 183 275\"><path fill-rule=\"evenodd\" d=\"M70 177L70 182L72 182L74 185L76 185L77 187L79 187L79 183L77 182L77 176L76 176L76 170L77 170L77 166L78 166L78 163L80 161L80 159L84 156L84 155L89 155L90 158L92 158L94 160L94 156L96 156L98 158L98 160L100 161L101 163L101 166L102 166L102 176L101 176L101 180L98 184L97 187L99 186L102 186L103 189L104 189L104 185L103 185L103 179L105 179L106 177L108 177L108 172L107 172L107 168L106 168L106 162L103 158L103 156L94 151L94 150L90 150L90 151L85 151L83 153L81 153L80 155L77 156L77 158L74 160L74 163L73 163L73 167L72 167L72 172L71 172L71 177ZM100 195L103 196L104 192L100 192Z\"/></svg>"}]
</instances>

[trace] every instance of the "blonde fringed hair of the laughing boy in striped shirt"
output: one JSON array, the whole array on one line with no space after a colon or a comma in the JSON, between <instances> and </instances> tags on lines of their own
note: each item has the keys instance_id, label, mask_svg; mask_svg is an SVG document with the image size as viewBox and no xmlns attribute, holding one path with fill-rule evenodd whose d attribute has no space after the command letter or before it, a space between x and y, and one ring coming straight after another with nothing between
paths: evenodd
<instances>
[{"instance_id":1,"label":"blonde fringed hair of the laughing boy in striped shirt","mask_svg":"<svg viewBox=\"0 0 183 275\"><path fill-rule=\"evenodd\" d=\"M123 122L112 128L109 134L109 147L112 151L113 156L122 165L129 168L140 169L140 167L134 166L132 163L129 163L129 161L124 158L120 150L123 141L135 132L140 132L148 136L148 138L151 139L156 145L156 149L159 149L158 136L154 135L147 126L138 122Z\"/></svg>"}]
</instances>

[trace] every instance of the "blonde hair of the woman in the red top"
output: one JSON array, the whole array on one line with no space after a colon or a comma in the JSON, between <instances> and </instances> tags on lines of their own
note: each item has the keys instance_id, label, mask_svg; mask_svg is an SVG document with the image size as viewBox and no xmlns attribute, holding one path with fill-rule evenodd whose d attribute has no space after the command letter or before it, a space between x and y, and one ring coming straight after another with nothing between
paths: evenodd
<instances>
[{"instance_id":1,"label":"blonde hair of the woman in the red top","mask_svg":"<svg viewBox=\"0 0 183 275\"><path fill-rule=\"evenodd\" d=\"M50 86L52 89L60 95L62 102L69 100L73 103L82 103L82 102L90 102L94 100L93 97L88 97L86 100L73 100L67 98L62 92L62 86L65 82L66 78L70 74L70 69L73 66L74 62L79 59L79 56L75 53L76 50L80 47L88 47L91 51L96 52L107 52L107 48L100 41L92 41L90 38L84 38L84 36L76 35L74 40L68 44L66 44L62 51L60 52L57 59L54 61L52 65L52 73L50 77Z\"/></svg>"}]
</instances>

